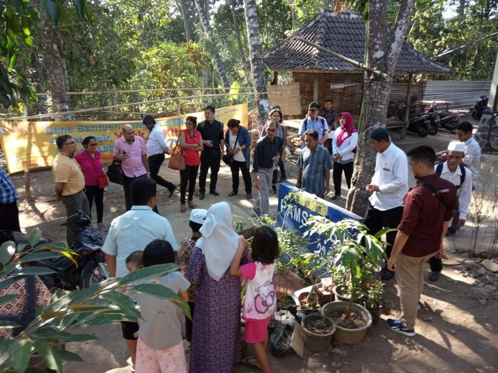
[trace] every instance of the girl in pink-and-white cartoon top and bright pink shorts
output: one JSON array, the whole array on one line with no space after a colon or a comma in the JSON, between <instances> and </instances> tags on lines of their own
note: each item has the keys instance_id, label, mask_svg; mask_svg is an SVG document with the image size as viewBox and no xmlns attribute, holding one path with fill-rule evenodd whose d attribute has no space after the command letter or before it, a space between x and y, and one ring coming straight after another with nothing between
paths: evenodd
<instances>
[{"instance_id":1,"label":"girl in pink-and-white cartoon top and bright pink shorts","mask_svg":"<svg viewBox=\"0 0 498 373\"><path fill-rule=\"evenodd\" d=\"M241 276L249 280L242 318L246 320L244 340L252 344L256 358L245 359L243 362L259 368L263 373L270 373L266 348L268 347L268 323L276 309L273 271L280 254L277 234L267 226L257 228L251 244L252 262L241 267L241 258L246 245L246 240L241 236L239 250L230 267L232 276Z\"/></svg>"}]
</instances>

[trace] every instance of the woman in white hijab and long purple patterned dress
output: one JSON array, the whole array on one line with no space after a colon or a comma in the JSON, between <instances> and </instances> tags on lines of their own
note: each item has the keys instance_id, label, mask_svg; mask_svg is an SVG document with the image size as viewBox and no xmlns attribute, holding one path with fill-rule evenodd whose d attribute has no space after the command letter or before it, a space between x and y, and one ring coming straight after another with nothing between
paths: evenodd
<instances>
[{"instance_id":1,"label":"woman in white hijab and long purple patterned dress","mask_svg":"<svg viewBox=\"0 0 498 373\"><path fill-rule=\"evenodd\" d=\"M200 233L187 272L197 285L189 373L231 373L241 361L241 280L230 275L239 236L227 202L209 208Z\"/></svg>"}]
</instances>

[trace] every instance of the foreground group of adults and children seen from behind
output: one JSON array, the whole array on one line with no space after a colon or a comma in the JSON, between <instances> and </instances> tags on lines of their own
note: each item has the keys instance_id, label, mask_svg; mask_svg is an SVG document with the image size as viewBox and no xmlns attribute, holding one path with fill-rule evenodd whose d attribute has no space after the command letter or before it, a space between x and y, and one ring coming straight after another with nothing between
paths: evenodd
<instances>
[{"instance_id":1,"label":"foreground group of adults and children seen from behind","mask_svg":"<svg viewBox=\"0 0 498 373\"><path fill-rule=\"evenodd\" d=\"M115 218L102 247L113 277L154 264L182 264L181 272L153 279L188 301L192 319L167 300L133 292L141 319L122 322L129 364L138 373L187 372L182 340L191 342L189 372L229 373L241 358L241 278L247 279L242 318L245 341L255 358L245 360L270 372L267 326L276 309L272 282L279 256L278 238L269 227L255 231L251 248L232 227L227 202L191 210L192 236L178 245L167 218L155 213L156 183L147 178L130 185L131 209ZM138 252L137 252L138 250ZM143 253L142 253L143 251ZM264 299L264 300L262 300Z\"/></svg>"}]
</instances>

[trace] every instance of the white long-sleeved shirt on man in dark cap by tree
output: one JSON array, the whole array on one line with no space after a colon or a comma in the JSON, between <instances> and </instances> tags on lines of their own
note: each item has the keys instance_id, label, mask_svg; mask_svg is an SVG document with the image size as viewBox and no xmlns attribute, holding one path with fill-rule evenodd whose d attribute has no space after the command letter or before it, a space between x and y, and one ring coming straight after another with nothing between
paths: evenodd
<instances>
[{"instance_id":1,"label":"white long-sleeved shirt on man in dark cap by tree","mask_svg":"<svg viewBox=\"0 0 498 373\"><path fill-rule=\"evenodd\" d=\"M380 211L403 206L403 197L408 192L408 158L404 151L392 142L382 153L375 156L374 191L369 200Z\"/></svg>"}]
</instances>

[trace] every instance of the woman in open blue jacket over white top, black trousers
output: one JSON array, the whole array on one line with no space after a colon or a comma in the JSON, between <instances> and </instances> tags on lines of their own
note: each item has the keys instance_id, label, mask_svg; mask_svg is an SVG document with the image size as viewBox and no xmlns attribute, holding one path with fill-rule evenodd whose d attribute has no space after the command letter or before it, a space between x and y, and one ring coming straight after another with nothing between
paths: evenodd
<instances>
[{"instance_id":1,"label":"woman in open blue jacket over white top, black trousers","mask_svg":"<svg viewBox=\"0 0 498 373\"><path fill-rule=\"evenodd\" d=\"M242 171L246 198L252 198L252 181L250 178L250 134L246 127L241 126L241 121L230 119L227 123L228 130L225 134L227 154L223 161L230 166L232 171L232 191L230 196L239 192L239 170Z\"/></svg>"}]
</instances>

